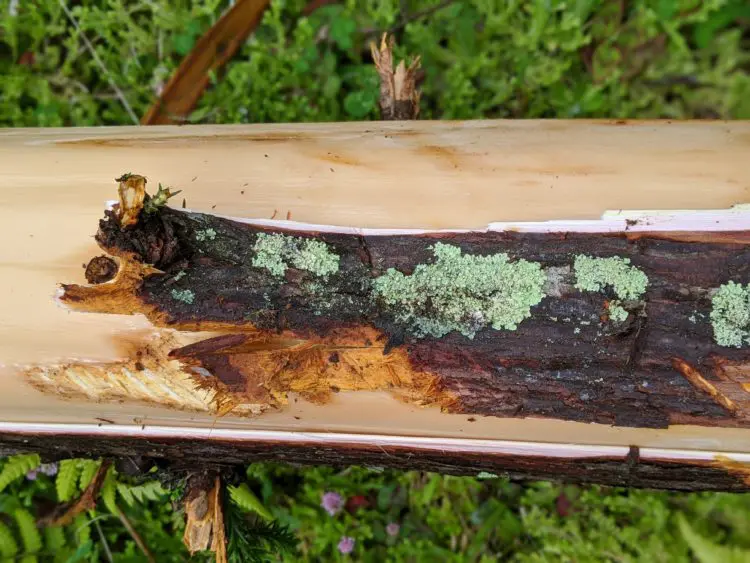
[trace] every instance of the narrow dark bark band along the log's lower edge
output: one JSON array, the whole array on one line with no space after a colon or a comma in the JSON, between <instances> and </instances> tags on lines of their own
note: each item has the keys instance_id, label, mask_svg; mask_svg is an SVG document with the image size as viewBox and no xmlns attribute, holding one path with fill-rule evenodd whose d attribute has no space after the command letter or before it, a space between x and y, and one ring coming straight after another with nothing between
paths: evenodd
<instances>
[{"instance_id":1,"label":"narrow dark bark band along the log's lower edge","mask_svg":"<svg viewBox=\"0 0 750 563\"><path fill-rule=\"evenodd\" d=\"M260 461L379 466L454 475L489 472L517 481L554 480L635 488L682 491L747 491L750 470L716 462L652 461L631 448L625 458L558 458L486 453L457 453L390 445L231 442L191 439L108 438L66 435L0 434L0 455L33 450L45 459L71 456L114 456L136 460L142 467L156 462L174 472L229 467Z\"/></svg>"}]
</instances>

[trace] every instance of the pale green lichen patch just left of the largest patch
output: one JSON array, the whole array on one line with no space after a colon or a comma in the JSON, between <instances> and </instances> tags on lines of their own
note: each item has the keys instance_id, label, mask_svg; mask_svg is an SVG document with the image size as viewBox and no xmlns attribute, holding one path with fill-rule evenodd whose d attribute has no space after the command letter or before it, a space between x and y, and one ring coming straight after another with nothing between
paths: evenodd
<instances>
[{"instance_id":1,"label":"pale green lichen patch just left of the largest patch","mask_svg":"<svg viewBox=\"0 0 750 563\"><path fill-rule=\"evenodd\" d=\"M324 242L279 234L258 234L252 264L282 277L287 268L327 277L339 271L339 256Z\"/></svg>"}]
</instances>

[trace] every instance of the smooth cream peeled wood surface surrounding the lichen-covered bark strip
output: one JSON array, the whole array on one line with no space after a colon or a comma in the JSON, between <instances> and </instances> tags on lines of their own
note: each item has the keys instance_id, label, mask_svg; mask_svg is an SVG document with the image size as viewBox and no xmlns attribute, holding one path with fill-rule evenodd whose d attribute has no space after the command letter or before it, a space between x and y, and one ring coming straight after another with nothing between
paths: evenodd
<instances>
[{"instance_id":1,"label":"smooth cream peeled wood surface surrounding the lichen-covered bark strip","mask_svg":"<svg viewBox=\"0 0 750 563\"><path fill-rule=\"evenodd\" d=\"M57 284L81 264L112 179L183 189L196 211L372 228L482 228L596 219L611 209L723 209L748 201L747 123L419 122L9 130L0 134L0 412L5 420L362 431L747 451L745 431L617 428L439 414L381 393L304 402L252 421L148 406L62 402L15 365L111 361L143 318L70 313ZM244 193L243 193L244 192ZM179 204L179 200L178 200ZM384 410L387 409L387 410ZM388 412L387 420L383 412ZM299 420L294 418L299 417ZM135 419L135 421L134 421Z\"/></svg>"}]
</instances>

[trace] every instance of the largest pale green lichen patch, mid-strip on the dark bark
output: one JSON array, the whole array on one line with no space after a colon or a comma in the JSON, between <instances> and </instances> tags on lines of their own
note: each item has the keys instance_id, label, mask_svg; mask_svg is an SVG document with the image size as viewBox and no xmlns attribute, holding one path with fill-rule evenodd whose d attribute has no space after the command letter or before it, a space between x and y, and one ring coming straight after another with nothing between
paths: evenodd
<instances>
[{"instance_id":1,"label":"largest pale green lichen patch, mid-strip on the dark bark","mask_svg":"<svg viewBox=\"0 0 750 563\"><path fill-rule=\"evenodd\" d=\"M391 268L373 281L375 297L418 337L458 331L515 330L544 298L546 276L536 262L511 262L507 254L462 255L457 246L437 243L433 264L406 276Z\"/></svg>"}]
</instances>

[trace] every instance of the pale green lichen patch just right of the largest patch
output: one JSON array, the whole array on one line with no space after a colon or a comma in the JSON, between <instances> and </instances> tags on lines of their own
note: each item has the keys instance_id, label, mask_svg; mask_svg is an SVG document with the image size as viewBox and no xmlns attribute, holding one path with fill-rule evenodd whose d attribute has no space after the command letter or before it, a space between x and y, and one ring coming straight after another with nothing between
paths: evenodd
<instances>
[{"instance_id":1,"label":"pale green lichen patch just right of the largest patch","mask_svg":"<svg viewBox=\"0 0 750 563\"><path fill-rule=\"evenodd\" d=\"M579 255L573 264L576 274L575 287L581 291L601 291L611 287L618 299L638 299L646 291L648 277L630 259L592 258Z\"/></svg>"}]
</instances>

